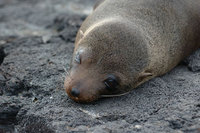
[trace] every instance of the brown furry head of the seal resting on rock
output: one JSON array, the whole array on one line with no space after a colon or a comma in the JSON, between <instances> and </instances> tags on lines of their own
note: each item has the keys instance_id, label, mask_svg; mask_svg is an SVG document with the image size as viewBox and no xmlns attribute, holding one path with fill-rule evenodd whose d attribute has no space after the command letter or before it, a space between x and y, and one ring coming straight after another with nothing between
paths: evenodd
<instances>
[{"instance_id":1,"label":"brown furry head of the seal resting on rock","mask_svg":"<svg viewBox=\"0 0 200 133\"><path fill-rule=\"evenodd\" d=\"M65 80L71 99L91 102L100 97L119 96L152 76L143 72L149 57L145 39L134 26L129 27L120 19L107 19L85 32L79 30Z\"/></svg>"}]
</instances>

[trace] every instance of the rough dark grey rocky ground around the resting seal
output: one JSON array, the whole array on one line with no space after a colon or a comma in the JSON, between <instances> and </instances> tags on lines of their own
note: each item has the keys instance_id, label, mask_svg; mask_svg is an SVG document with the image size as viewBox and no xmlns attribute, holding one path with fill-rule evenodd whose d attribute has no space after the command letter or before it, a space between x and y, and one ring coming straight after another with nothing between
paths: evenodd
<instances>
[{"instance_id":1,"label":"rough dark grey rocky ground around the resting seal","mask_svg":"<svg viewBox=\"0 0 200 133\"><path fill-rule=\"evenodd\" d=\"M94 0L0 0L0 133L198 133L200 50L130 94L78 104L63 82Z\"/></svg>"}]
</instances>

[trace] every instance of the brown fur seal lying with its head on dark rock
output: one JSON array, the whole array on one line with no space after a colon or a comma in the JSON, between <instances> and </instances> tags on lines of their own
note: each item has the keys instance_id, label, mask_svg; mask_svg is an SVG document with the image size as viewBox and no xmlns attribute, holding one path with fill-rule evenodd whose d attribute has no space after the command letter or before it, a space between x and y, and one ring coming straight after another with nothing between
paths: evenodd
<instances>
[{"instance_id":1,"label":"brown fur seal lying with its head on dark rock","mask_svg":"<svg viewBox=\"0 0 200 133\"><path fill-rule=\"evenodd\" d=\"M76 102L126 94L200 47L200 0L102 0L83 22L65 89Z\"/></svg>"}]
</instances>

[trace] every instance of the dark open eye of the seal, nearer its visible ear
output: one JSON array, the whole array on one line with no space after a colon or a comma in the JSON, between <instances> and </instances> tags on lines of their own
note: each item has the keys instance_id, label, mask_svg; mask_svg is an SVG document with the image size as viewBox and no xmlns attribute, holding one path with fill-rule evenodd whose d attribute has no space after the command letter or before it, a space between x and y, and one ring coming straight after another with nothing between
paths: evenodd
<instances>
[{"instance_id":1,"label":"dark open eye of the seal, nearer its visible ear","mask_svg":"<svg viewBox=\"0 0 200 133\"><path fill-rule=\"evenodd\" d=\"M104 81L106 85L106 89L109 91L113 91L119 85L117 82L117 78L114 75L109 75L109 77Z\"/></svg>"}]
</instances>

